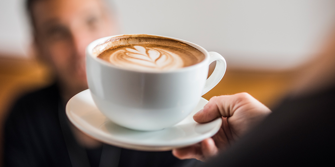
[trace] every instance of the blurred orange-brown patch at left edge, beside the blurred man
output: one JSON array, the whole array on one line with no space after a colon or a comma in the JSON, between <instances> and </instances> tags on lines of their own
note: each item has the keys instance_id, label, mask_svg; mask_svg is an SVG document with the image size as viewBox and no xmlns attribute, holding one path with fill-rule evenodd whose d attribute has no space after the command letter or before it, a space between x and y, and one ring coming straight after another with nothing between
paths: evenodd
<instances>
[{"instance_id":1,"label":"blurred orange-brown patch at left edge, beside the blurred man","mask_svg":"<svg viewBox=\"0 0 335 167\"><path fill-rule=\"evenodd\" d=\"M9 107L24 93L41 88L50 81L48 68L36 60L0 56L0 166L3 166L3 124Z\"/></svg>"}]
</instances>

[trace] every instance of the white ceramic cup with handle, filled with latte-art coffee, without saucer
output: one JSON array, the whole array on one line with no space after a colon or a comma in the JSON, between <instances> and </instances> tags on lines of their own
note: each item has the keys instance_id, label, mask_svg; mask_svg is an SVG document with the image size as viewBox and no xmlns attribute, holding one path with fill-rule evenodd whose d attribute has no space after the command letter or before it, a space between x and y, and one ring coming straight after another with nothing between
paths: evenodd
<instances>
[{"instance_id":1,"label":"white ceramic cup with handle, filled with latte-art coffee, without saucer","mask_svg":"<svg viewBox=\"0 0 335 167\"><path fill-rule=\"evenodd\" d=\"M185 119L225 69L219 53L171 37L117 35L86 47L94 103L114 123L135 130L161 130Z\"/></svg>"}]
</instances>

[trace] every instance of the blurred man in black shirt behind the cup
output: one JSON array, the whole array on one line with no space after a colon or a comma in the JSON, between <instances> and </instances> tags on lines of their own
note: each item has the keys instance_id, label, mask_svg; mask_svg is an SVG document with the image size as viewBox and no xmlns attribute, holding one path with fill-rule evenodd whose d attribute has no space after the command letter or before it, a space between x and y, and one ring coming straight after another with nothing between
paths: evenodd
<instances>
[{"instance_id":1,"label":"blurred man in black shirt behind the cup","mask_svg":"<svg viewBox=\"0 0 335 167\"><path fill-rule=\"evenodd\" d=\"M173 166L171 152L141 152L96 141L69 123L67 101L87 89L85 47L114 35L113 15L102 0L27 0L39 58L54 85L21 98L5 125L6 166ZM187 161L188 162L188 161Z\"/></svg>"}]
</instances>

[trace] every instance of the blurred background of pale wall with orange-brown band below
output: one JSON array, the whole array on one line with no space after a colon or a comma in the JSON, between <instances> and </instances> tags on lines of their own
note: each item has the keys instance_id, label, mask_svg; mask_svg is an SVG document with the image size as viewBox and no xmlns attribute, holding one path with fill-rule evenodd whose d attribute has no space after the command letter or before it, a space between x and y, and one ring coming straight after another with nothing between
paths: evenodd
<instances>
[{"instance_id":1,"label":"blurred background of pale wall with orange-brown band below","mask_svg":"<svg viewBox=\"0 0 335 167\"><path fill-rule=\"evenodd\" d=\"M334 0L113 0L122 34L185 39L227 61L203 97L248 92L270 108L293 73L318 55L335 25ZM34 57L24 0L0 0L0 123L22 94L52 82Z\"/></svg>"}]
</instances>

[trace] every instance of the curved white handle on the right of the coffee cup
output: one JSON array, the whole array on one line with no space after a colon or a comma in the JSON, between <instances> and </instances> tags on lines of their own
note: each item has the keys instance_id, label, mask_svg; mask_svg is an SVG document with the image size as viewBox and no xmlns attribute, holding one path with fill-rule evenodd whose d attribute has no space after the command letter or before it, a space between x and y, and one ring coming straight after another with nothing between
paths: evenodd
<instances>
[{"instance_id":1,"label":"curved white handle on the right of the coffee cup","mask_svg":"<svg viewBox=\"0 0 335 167\"><path fill-rule=\"evenodd\" d=\"M216 65L213 73L206 80L205 88L202 91L202 95L213 89L220 82L227 68L226 60L221 56L221 54L216 52L208 53L210 57L209 64L213 61L216 61Z\"/></svg>"}]
</instances>

